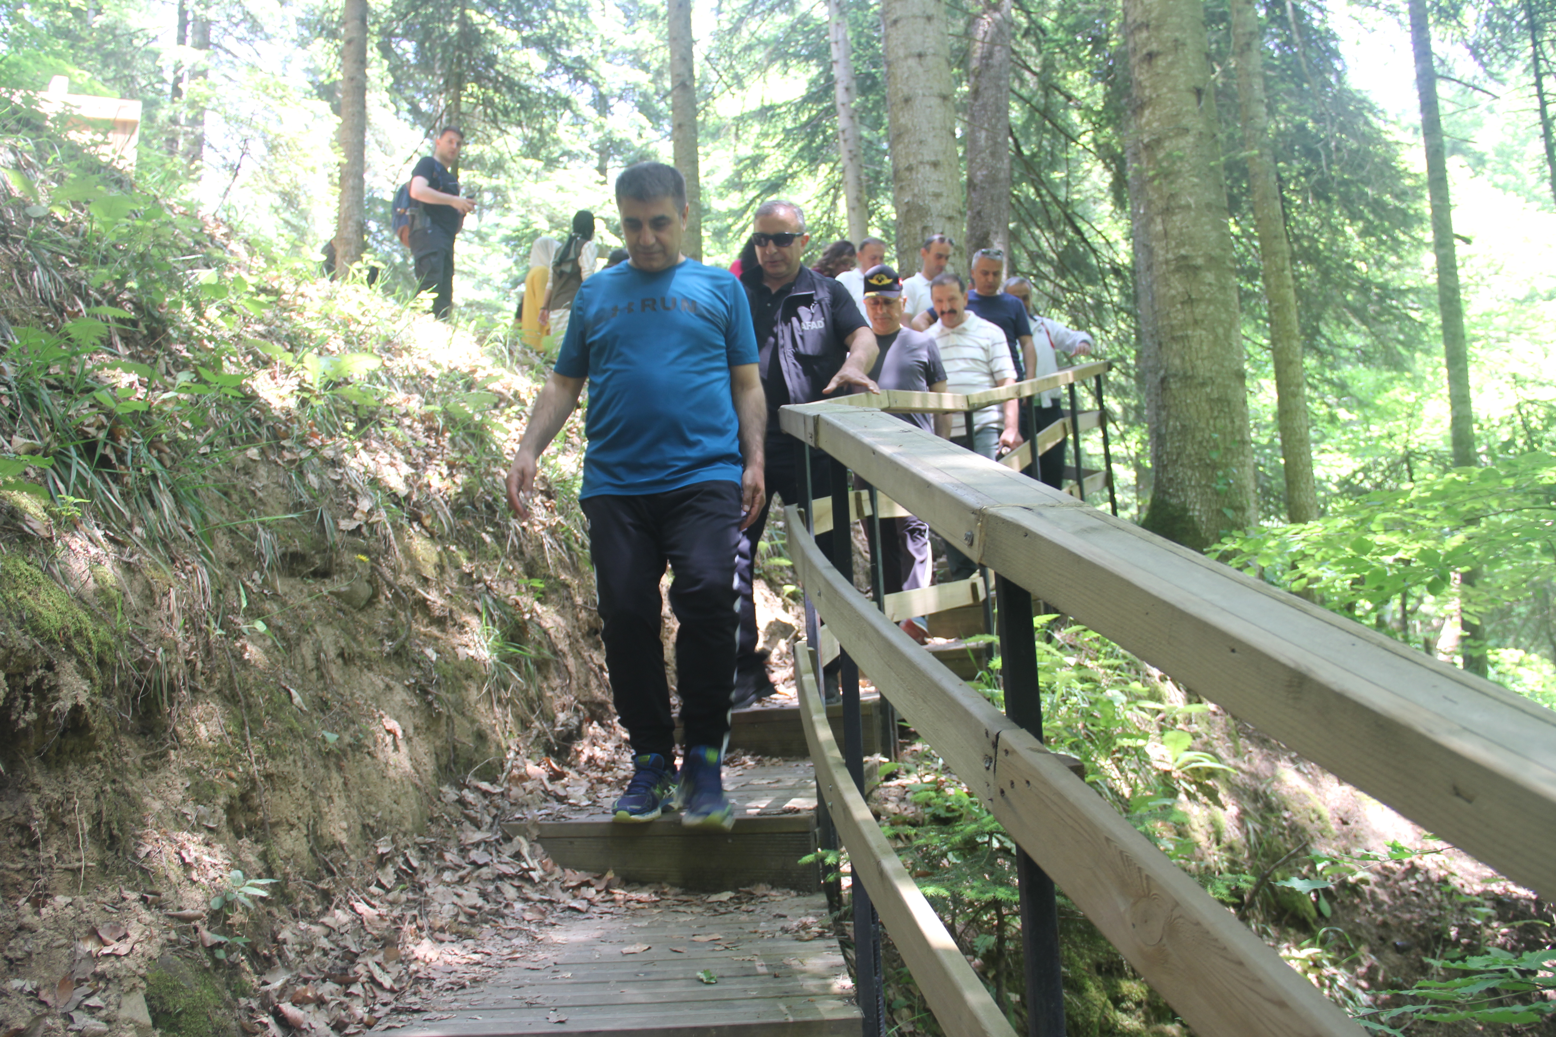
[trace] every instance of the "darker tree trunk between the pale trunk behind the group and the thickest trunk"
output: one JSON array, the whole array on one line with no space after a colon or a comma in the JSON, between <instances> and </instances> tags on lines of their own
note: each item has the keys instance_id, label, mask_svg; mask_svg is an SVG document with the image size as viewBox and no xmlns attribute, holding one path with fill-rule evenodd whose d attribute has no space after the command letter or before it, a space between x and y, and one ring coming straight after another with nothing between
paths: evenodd
<instances>
[{"instance_id":1,"label":"darker tree trunk between the pale trunk behind the group and the thickest trunk","mask_svg":"<svg viewBox=\"0 0 1556 1037\"><path fill-rule=\"evenodd\" d=\"M966 249L1010 253L1010 0L972 6Z\"/></svg>"}]
</instances>

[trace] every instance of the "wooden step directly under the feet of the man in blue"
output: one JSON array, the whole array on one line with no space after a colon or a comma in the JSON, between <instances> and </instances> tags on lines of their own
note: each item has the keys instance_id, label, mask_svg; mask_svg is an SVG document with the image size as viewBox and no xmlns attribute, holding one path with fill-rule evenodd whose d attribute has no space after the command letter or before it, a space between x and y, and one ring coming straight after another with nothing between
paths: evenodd
<instances>
[{"instance_id":1,"label":"wooden step directly under the feet of the man in blue","mask_svg":"<svg viewBox=\"0 0 1556 1037\"><path fill-rule=\"evenodd\" d=\"M646 824L618 824L608 804L552 804L535 836L557 864L574 871L613 871L626 882L669 883L724 891L767 883L812 892L820 868L801 864L815 852L815 777L808 760L727 766L724 787L736 807L731 832L682 827L669 813ZM527 835L524 822L504 826Z\"/></svg>"}]
</instances>

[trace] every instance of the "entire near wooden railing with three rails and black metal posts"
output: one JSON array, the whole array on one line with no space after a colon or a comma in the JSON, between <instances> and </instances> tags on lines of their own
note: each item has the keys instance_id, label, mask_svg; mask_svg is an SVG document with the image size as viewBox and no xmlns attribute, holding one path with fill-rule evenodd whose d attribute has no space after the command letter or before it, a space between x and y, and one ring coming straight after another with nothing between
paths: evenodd
<instances>
[{"instance_id":1,"label":"entire near wooden railing with three rails and black metal posts","mask_svg":"<svg viewBox=\"0 0 1556 1037\"><path fill-rule=\"evenodd\" d=\"M862 667L1021 847L1033 1032L1064 1032L1049 880L1198 1034L1363 1032L1043 748L1033 594L1509 878L1556 896L1556 714L862 403L789 406L783 428L832 459L834 488L853 470L997 574L1008 714L854 589L846 546L825 558L806 532L820 508L806 513L811 502L800 502L787 508L787 535L808 639L823 644L818 614L826 641L842 648L845 745L854 743L850 697L857 703L850 667ZM848 504L839 488L834 512ZM814 659L797 667L808 711L818 707L814 672ZM817 732L812 749L865 908L856 903L860 967L870 959L860 919L881 903L946 1032L1001 1032L988 1014L997 1006L949 961L890 847L870 836L828 740ZM850 759L848 771L862 788L862 762ZM1046 975L1032 961L1044 955ZM881 1020L865 1007L873 1032Z\"/></svg>"}]
</instances>

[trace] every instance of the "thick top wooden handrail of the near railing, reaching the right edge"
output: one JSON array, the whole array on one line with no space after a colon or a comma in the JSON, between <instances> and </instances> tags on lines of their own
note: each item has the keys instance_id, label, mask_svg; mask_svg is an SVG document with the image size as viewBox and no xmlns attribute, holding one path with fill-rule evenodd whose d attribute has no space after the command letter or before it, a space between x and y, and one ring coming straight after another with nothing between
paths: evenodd
<instances>
[{"instance_id":1,"label":"thick top wooden handrail of the near railing, reaching the right edge","mask_svg":"<svg viewBox=\"0 0 1556 1037\"><path fill-rule=\"evenodd\" d=\"M888 414L828 401L781 421L971 558L1556 899L1556 712Z\"/></svg>"}]
</instances>

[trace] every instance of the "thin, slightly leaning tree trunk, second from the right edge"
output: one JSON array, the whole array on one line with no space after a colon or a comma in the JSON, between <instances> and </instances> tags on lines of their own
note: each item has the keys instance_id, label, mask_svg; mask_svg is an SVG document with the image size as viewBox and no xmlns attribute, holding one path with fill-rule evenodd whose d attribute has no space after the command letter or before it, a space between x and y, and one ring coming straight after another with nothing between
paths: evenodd
<instances>
[{"instance_id":1,"label":"thin, slightly leaning tree trunk, second from the right edge","mask_svg":"<svg viewBox=\"0 0 1556 1037\"><path fill-rule=\"evenodd\" d=\"M1442 365L1449 378L1449 437L1453 466L1474 468L1475 412L1469 390L1469 340L1464 334L1464 297L1458 281L1458 249L1453 244L1453 201L1449 194L1449 162L1442 146L1442 115L1438 112L1438 72L1432 61L1432 25L1425 0L1408 0L1410 48L1416 58L1416 93L1421 98L1421 143L1427 151L1427 197L1432 202L1432 250L1438 261L1438 314L1442 322ZM1474 594L1480 574L1460 574L1464 647L1470 673L1486 675L1486 642L1474 619Z\"/></svg>"}]
</instances>

